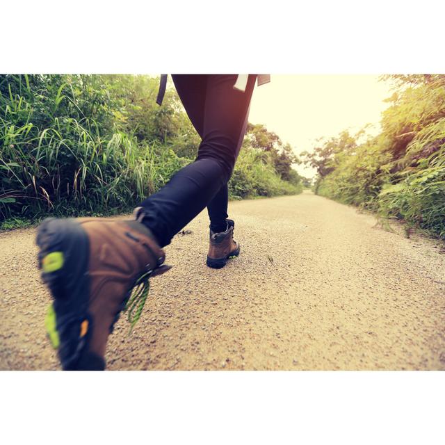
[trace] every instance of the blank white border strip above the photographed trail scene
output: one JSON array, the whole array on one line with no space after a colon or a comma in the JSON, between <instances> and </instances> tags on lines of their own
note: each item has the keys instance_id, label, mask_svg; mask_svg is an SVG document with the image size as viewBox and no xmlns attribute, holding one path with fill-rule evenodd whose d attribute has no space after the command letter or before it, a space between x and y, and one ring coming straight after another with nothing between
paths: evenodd
<instances>
[{"instance_id":1,"label":"blank white border strip above the photographed trail scene","mask_svg":"<svg viewBox=\"0 0 445 445\"><path fill-rule=\"evenodd\" d=\"M6 2L0 72L444 72L439 4Z\"/></svg>"}]
</instances>

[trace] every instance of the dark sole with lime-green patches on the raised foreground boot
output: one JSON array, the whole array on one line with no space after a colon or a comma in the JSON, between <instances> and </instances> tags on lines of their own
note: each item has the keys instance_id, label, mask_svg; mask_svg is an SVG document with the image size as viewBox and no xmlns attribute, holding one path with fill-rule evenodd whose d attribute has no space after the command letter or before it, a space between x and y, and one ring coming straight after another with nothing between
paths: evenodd
<instances>
[{"instance_id":1,"label":"dark sole with lime-green patches on the raised foreground boot","mask_svg":"<svg viewBox=\"0 0 445 445\"><path fill-rule=\"evenodd\" d=\"M88 314L90 243L85 230L72 219L47 218L38 227L36 243L42 280L54 300L45 327L63 369L104 369L102 357L83 354L92 331Z\"/></svg>"}]
</instances>

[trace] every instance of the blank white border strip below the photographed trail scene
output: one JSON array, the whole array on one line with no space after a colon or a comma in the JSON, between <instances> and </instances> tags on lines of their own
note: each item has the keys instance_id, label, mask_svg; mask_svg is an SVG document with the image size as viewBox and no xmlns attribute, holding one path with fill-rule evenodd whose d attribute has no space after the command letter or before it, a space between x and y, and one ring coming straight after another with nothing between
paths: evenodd
<instances>
[{"instance_id":1,"label":"blank white border strip below the photographed trail scene","mask_svg":"<svg viewBox=\"0 0 445 445\"><path fill-rule=\"evenodd\" d=\"M443 435L443 376L1 373L0 438L8 445L432 444Z\"/></svg>"}]
</instances>

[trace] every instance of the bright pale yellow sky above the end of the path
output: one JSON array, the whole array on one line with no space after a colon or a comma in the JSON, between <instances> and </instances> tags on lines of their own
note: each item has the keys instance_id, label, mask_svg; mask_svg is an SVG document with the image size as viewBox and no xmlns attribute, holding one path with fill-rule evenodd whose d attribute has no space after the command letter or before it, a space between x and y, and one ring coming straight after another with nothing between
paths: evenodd
<instances>
[{"instance_id":1,"label":"bright pale yellow sky above the end of the path","mask_svg":"<svg viewBox=\"0 0 445 445\"><path fill-rule=\"evenodd\" d=\"M382 101L392 95L390 88L376 75L272 75L270 83L253 92L249 122L265 124L296 154L310 152L314 140L344 129L354 132L369 123L369 133L378 133L380 114L389 105ZM304 165L295 168L307 177L315 174Z\"/></svg>"}]
</instances>

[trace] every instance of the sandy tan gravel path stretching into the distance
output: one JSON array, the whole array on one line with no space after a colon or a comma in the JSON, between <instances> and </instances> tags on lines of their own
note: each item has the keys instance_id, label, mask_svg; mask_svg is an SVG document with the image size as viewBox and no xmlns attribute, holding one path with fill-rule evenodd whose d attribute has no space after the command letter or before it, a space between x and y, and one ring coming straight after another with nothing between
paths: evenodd
<instances>
[{"instance_id":1,"label":"sandy tan gravel path stretching into the distance","mask_svg":"<svg viewBox=\"0 0 445 445\"><path fill-rule=\"evenodd\" d=\"M443 243L405 238L312 193L230 203L241 256L207 268L207 214L166 248L115 369L445 369ZM59 369L35 229L0 234L0 369Z\"/></svg>"}]
</instances>

